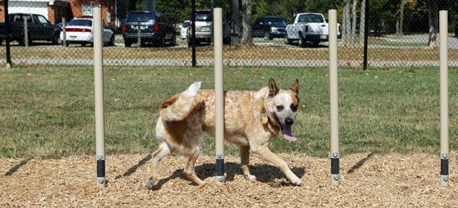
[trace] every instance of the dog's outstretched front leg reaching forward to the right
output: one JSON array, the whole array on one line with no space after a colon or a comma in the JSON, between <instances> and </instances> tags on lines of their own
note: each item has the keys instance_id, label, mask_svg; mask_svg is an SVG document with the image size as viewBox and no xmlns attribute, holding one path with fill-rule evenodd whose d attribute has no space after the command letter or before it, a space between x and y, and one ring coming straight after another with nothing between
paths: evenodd
<instances>
[{"instance_id":1,"label":"dog's outstretched front leg reaching forward to the right","mask_svg":"<svg viewBox=\"0 0 458 208\"><path fill-rule=\"evenodd\" d=\"M277 155L273 154L271 150L267 146L261 146L259 148L255 148L251 150L253 153L256 155L259 155L262 159L264 159L266 162L270 162L271 164L277 166L280 168L280 170L285 173L287 176L288 180L295 184L295 185L300 185L302 184L302 181L297 177L291 169L289 169L288 164L280 159Z\"/></svg>"}]
</instances>

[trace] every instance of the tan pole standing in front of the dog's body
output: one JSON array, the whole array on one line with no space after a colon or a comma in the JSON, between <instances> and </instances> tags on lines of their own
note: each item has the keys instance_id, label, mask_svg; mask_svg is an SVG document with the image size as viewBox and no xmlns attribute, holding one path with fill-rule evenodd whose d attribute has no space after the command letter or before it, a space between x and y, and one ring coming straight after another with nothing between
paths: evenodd
<instances>
[{"instance_id":1,"label":"tan pole standing in front of the dog's body","mask_svg":"<svg viewBox=\"0 0 458 208\"><path fill-rule=\"evenodd\" d=\"M224 97L223 97L223 10L213 10L214 28L214 96L216 109L215 150L217 157L217 183L224 182Z\"/></svg>"}]
</instances>

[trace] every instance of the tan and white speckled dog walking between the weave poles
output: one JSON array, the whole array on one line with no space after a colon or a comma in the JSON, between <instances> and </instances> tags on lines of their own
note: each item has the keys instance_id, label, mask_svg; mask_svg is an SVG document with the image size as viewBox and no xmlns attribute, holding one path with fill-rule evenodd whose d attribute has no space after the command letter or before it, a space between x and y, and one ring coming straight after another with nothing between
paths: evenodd
<instances>
[{"instance_id":1,"label":"tan and white speckled dog walking between the weave poles","mask_svg":"<svg viewBox=\"0 0 458 208\"><path fill-rule=\"evenodd\" d=\"M151 159L152 175L146 182L148 189L152 189L157 182L160 160L173 150L180 151L186 158L185 177L198 186L204 184L197 177L194 164L200 153L203 132L214 137L215 101L213 90L200 88L200 82L194 83L185 92L172 96L160 105L160 116L155 127L155 136L160 144ZM292 184L302 184L287 163L269 150L269 141L280 130L285 139L296 141L291 134L291 125L298 115L298 94L298 79L291 89L285 90L279 89L273 78L269 79L269 87L257 92L225 92L224 139L240 147L241 171L246 179L256 180L248 169L249 156L253 153L280 168Z\"/></svg>"}]
</instances>

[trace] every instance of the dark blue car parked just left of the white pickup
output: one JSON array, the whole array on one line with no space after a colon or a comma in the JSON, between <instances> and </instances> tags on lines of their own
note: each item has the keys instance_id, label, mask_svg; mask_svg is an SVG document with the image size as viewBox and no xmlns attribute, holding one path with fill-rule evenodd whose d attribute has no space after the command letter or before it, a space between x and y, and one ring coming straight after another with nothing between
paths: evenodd
<instances>
[{"instance_id":1,"label":"dark blue car parked just left of the white pickup","mask_svg":"<svg viewBox=\"0 0 458 208\"><path fill-rule=\"evenodd\" d=\"M286 33L286 21L279 16L264 16L256 19L253 24L253 36L264 37L264 40L283 38Z\"/></svg>"}]
</instances>

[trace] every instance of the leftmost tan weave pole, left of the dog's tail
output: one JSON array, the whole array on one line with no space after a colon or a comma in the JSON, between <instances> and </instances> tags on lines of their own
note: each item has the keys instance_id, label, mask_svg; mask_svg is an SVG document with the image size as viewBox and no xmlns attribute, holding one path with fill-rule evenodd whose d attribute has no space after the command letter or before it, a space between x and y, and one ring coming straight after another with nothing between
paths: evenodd
<instances>
[{"instance_id":1,"label":"leftmost tan weave pole, left of the dog's tail","mask_svg":"<svg viewBox=\"0 0 458 208\"><path fill-rule=\"evenodd\" d=\"M103 41L100 6L92 8L94 29L94 96L96 121L97 187L105 187L105 121L103 119Z\"/></svg>"}]
</instances>

